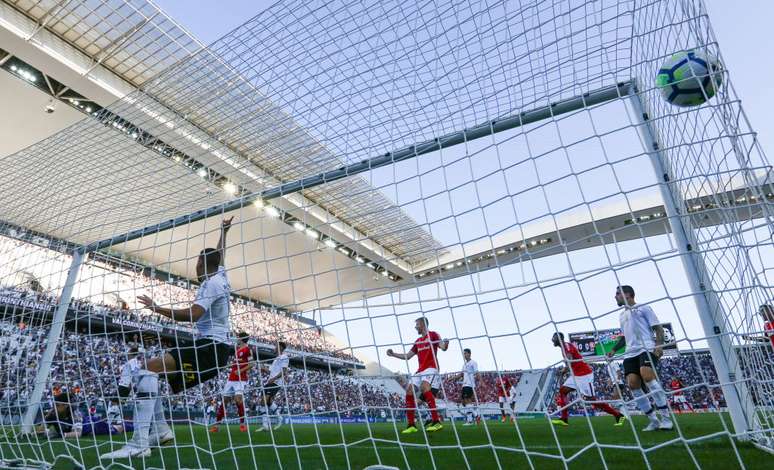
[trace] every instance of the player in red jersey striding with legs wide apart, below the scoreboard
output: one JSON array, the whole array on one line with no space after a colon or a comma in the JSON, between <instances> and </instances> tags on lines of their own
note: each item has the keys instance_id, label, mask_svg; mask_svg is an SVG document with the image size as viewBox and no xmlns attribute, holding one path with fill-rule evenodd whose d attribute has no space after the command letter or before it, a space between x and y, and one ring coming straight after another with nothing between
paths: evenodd
<instances>
[{"instance_id":1,"label":"player in red jersey striding with legs wide apart, below the scoreboard","mask_svg":"<svg viewBox=\"0 0 774 470\"><path fill-rule=\"evenodd\" d=\"M602 410L605 413L615 417L615 425L623 425L625 416L607 403L600 403L594 397L594 370L583 360L583 356L572 343L564 341L564 334L554 333L551 337L554 346L562 349L562 358L565 367L563 372L571 371L564 384L559 388L559 397L556 404L561 408L561 418L551 420L553 424L567 426L570 417L569 401L567 396L573 391L577 391L584 401L587 401L593 408Z\"/></svg>"}]
</instances>

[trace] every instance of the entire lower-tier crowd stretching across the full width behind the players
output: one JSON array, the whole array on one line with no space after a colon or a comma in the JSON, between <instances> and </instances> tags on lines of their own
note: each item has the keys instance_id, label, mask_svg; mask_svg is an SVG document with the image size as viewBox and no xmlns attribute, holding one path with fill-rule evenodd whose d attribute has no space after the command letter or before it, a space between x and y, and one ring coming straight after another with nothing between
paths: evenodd
<instances>
[{"instance_id":1,"label":"entire lower-tier crowd stretching across the full width behind the players","mask_svg":"<svg viewBox=\"0 0 774 470\"><path fill-rule=\"evenodd\" d=\"M47 327L14 324L0 321L0 414L8 416L22 410L34 384L35 373L40 366L46 345ZM132 338L142 341L149 355L160 354L164 345L148 342L147 338ZM51 369L51 387L47 388L44 400L50 401L60 390L67 390L77 397L85 407L102 408L106 400L117 396L117 377L121 365L127 361L127 343L124 338L106 334L79 334L65 331L54 356ZM257 414L260 408L260 384L267 374L268 360L259 362L250 371L245 401L247 408ZM597 397L604 400L613 398L613 382L604 364L592 364L595 372ZM551 369L553 382L561 383L559 369ZM170 397L167 406L171 411L181 413L198 412L220 398L228 370L223 370L217 380ZM682 383L682 393L694 409L716 410L726 406L723 393L718 386L711 356L707 352L688 353L664 357L659 363L658 374L665 389L671 392L669 384L673 378ZM521 374L516 371L480 372L477 375L476 396L479 402L497 401L497 381L507 377L516 386ZM396 379L405 385L405 377ZM441 398L459 401L461 381L459 374L446 374L443 380ZM165 383L165 382L163 382ZM277 394L275 402L283 412L294 415L308 413L330 413L355 415L378 415L393 412L400 415L404 407L402 393L387 390L384 381L368 379L318 369L291 368L286 377L286 386ZM624 397L631 399L624 389ZM549 395L550 396L550 395ZM552 403L549 411L555 410ZM15 411L14 411L15 410ZM582 411L576 404L572 410Z\"/></svg>"}]
</instances>

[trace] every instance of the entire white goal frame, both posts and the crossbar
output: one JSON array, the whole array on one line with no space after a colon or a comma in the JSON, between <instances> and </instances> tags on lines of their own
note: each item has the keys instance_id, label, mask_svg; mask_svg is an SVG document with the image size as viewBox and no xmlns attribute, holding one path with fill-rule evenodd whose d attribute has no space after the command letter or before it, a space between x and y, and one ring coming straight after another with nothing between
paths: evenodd
<instances>
[{"instance_id":1,"label":"entire white goal frame, both posts and the crossbar","mask_svg":"<svg viewBox=\"0 0 774 470\"><path fill-rule=\"evenodd\" d=\"M22 432L32 431L33 422L37 411L41 406L41 397L47 386L54 353L59 346L62 328L72 298L73 287L77 283L78 273L85 257L90 252L101 250L116 244L141 238L150 233L158 233L173 227L185 225L210 216L224 214L234 209L246 207L256 200L270 200L295 193L314 186L319 186L332 181L340 180L373 169L391 165L393 163L419 157L443 148L451 147L495 133L521 127L526 124L536 123L546 119L552 119L558 115L581 110L590 106L604 104L614 100L627 100L635 114L635 126L637 127L645 152L648 154L653 169L657 175L663 178L659 182L659 190L664 201L666 217L669 220L671 230L677 241L679 256L690 282L699 316L704 329L705 339L709 343L714 365L718 372L720 386L726 397L729 413L732 418L735 435L745 438L756 429L755 407L749 391L743 380L741 366L733 347L727 323L724 321L723 307L711 289L702 283L706 279L707 270L701 253L692 249L696 246L693 236L693 227L684 211L685 201L681 194L674 189L673 179L665 170L666 156L662 152L658 142L657 129L649 118L648 111L643 103L636 82L628 81L589 91L569 99L548 104L543 107L523 111L506 119L481 123L472 128L448 134L429 141L418 143L404 149L376 156L368 160L353 163L341 168L303 178L297 181L281 184L261 192L253 192L243 195L228 203L213 206L191 214L177 217L148 227L127 232L123 235L83 245L73 252L73 260L69 267L67 282L62 291L57 309L53 318L52 327L48 333L47 345L39 369L36 372L34 389L27 404L26 413L22 421ZM737 150L738 151L738 150ZM769 218L768 214L764 217ZM453 273L452 273L453 274ZM432 282L428 280L428 282ZM417 281L414 281L416 284ZM397 285L395 289L403 288Z\"/></svg>"}]
</instances>

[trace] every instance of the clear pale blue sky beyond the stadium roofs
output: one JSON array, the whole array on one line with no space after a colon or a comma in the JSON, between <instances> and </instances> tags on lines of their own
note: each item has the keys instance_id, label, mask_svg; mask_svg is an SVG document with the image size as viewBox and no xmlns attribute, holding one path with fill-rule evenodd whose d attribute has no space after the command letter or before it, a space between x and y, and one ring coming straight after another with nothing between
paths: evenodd
<instances>
[{"instance_id":1,"label":"clear pale blue sky beyond the stadium roofs","mask_svg":"<svg viewBox=\"0 0 774 470\"><path fill-rule=\"evenodd\" d=\"M190 0L157 0L157 3L181 25L189 29L202 42L209 44L242 24L260 10L270 5L269 2L256 1L232 1L224 3ZM743 8L741 4L749 4L756 14L750 15L751 8ZM764 150L772 149L770 109L774 104L774 87L769 83L769 77L774 76L774 64L772 61L762 58L758 51L760 44L770 42L768 37L769 21L774 17L774 2L727 2L723 0L707 0L707 9L715 33L718 37L722 51L722 59L728 70L737 93L741 96L742 104L754 129L763 132L760 140ZM609 111L609 112L608 112ZM609 109L600 113L590 114L589 120L597 125L604 126L611 121L628 119L626 111L612 105ZM616 116L615 119L610 115ZM559 133L563 138L578 133L578 138L583 135L584 124L571 121L563 123ZM540 130L535 131L540 135ZM595 129L599 133L599 129ZM507 150L512 162L518 161L514 149L518 148L516 142L509 142L509 138L515 139L515 133L498 136L498 149ZM631 137L631 136L629 136ZM538 139L535 139L538 140ZM545 137L538 143L550 142L551 138ZM632 140L634 141L634 140ZM534 145L534 144L533 144ZM547 144L546 144L547 145ZM617 145L615 142L607 144L607 149L612 150L613 155L607 155L608 161L616 161L626 158L626 148L631 143ZM492 152L494 150L488 151ZM534 150L533 151L537 151ZM616 152L620 152L617 154ZM451 154L451 155L450 155ZM486 155L491 157L491 153ZM454 159L453 151L443 157L433 158ZM479 161L491 161L479 159ZM433 165L430 158L428 165ZM461 158L465 162L466 159ZM436 164L438 164L436 162ZM515 163L514 163L515 164ZM620 183L618 189L636 188L641 185L652 184L655 175L649 167L649 163L643 159L629 162L635 166L633 175ZM503 165L500 160L500 165ZM559 157L556 161L546 159L543 166L535 168L532 179L542 181L550 180L550 175L561 178L568 170L563 166L563 160ZM483 165L484 167L486 165ZM518 167L514 167L518 168ZM411 168L398 168L398 171L410 171ZM484 172L485 168L475 168L471 172ZM577 172L578 169L574 168ZM389 172L388 172L389 173ZM484 174L484 173L479 173ZM538 174L540 177L538 177ZM389 174L373 173L374 175L390 177ZM498 194L504 191L504 187L513 184L528 185L525 173L518 175L505 175L502 181L482 181L481 190L473 195L471 192L462 192L456 199L443 201L437 204L425 204L424 207L411 212L416 219L423 217L428 220L438 220L444 214L456 214L461 206L473 198L473 204L481 204L482 200L496 201ZM448 177L447 175L441 175ZM607 181L618 176L592 175L598 178L596 181ZM400 177L396 177L399 180ZM483 178L482 176L477 176ZM453 178L453 175L452 175ZM381 178L377 178L382 181ZM612 193L607 191L606 185L595 184L594 179L579 182L586 193L585 200L604 198ZM433 185L439 185L443 192L450 184L446 180L428 178L419 183L425 191L431 191ZM385 191L397 187L397 184L384 183ZM505 186L504 186L505 185ZM513 191L509 186L507 190ZM390 197L397 200L410 192L410 188L404 188L401 194L393 194ZM607 192L606 192L607 191ZM591 192L591 193L589 193ZM489 193L489 195L487 195ZM450 195L450 198L453 198ZM610 196L612 197L612 196ZM481 198L478 201L475 198ZM487 199L489 198L489 199ZM566 186L550 195L552 211L561 210L571 204L577 195ZM612 199L611 199L612 200ZM609 202L609 201L608 201ZM493 203L494 204L494 203ZM563 205L564 204L564 205ZM508 207L495 207L498 211L508 210ZM533 208L535 215L546 211L535 199L524 201L520 207ZM557 207L559 209L557 209ZM431 213L429 213L431 212ZM529 212L527 210L527 212ZM524 210L519 214L525 217ZM529 217L529 215L526 215ZM496 223L497 217L482 219L487 223ZM455 217L454 225L457 229L438 230L433 235L450 238L442 240L453 243L455 239L468 240L477 236L477 227L482 227L481 219L465 221L462 217ZM460 229L459 227L462 227ZM497 230L507 228L488 225L485 232L494 233ZM460 233L460 230L467 230ZM451 234L451 235L449 235ZM763 234L765 235L765 234ZM752 235L761 236L755 232ZM450 368L456 363L461 363L461 349L471 347L474 357L479 361L482 369L516 369L539 368L556 363L559 359L558 352L551 348L548 342L550 334L556 328L550 322L556 322L564 331L586 331L597 328L610 328L617 326L615 305L613 304L614 286L623 278L636 285L639 298L653 302L653 307L662 321L671 322L675 327L678 339L684 340L681 349L690 347L703 347L704 343L686 342L686 338L698 338L702 336L701 326L696 316L693 302L683 298L688 292L688 284L685 274L677 259L670 256L673 248L671 237L660 236L645 240L621 243L617 249L589 249L575 252L570 256L554 257L541 260L532 264L522 263L503 269L494 269L477 276L464 276L451 282L435 286L401 292L392 298L372 299L368 308L353 307L320 312L318 320L329 325L329 329L349 344L360 347L361 352L371 358L379 358L382 364L388 368L399 371L408 371L407 365L392 359L385 359L384 351L387 347L395 346L395 343L407 344L416 336L413 332L413 319L424 312L431 319L431 329L437 329L442 336L463 338L452 342L450 351L445 354ZM764 256L770 256L770 253ZM658 258L648 262L638 262L631 267L618 272L618 278L610 271L594 273L594 270L604 268L608 263L621 260L637 260L641 257ZM771 258L768 258L769 260ZM566 276L576 274L576 279ZM579 273L588 273L579 276ZM545 279L555 279L546 283ZM535 288L535 280L541 280L540 288ZM378 351L374 344L380 345Z\"/></svg>"}]
</instances>

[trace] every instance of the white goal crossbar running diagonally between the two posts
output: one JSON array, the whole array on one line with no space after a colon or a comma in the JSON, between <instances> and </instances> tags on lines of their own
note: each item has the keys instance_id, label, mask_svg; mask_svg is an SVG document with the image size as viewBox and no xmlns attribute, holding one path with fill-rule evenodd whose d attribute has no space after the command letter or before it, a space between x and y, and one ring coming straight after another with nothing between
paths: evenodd
<instances>
[{"instance_id":1,"label":"white goal crossbar running diagonally between the two posts","mask_svg":"<svg viewBox=\"0 0 774 470\"><path fill-rule=\"evenodd\" d=\"M279 186L269 188L265 191L248 193L237 199L234 199L233 201L198 210L191 214L177 217L172 220L166 220L164 222L153 224L145 228L132 230L131 232L117 235L112 238L90 243L82 247L80 251L82 253L90 253L92 251L97 251L121 243L126 243L128 241L144 237L145 235L158 233L164 230L178 227L180 225L190 224L192 222L206 219L214 215L222 215L226 212L245 207L258 199L268 201L278 197L286 196L288 194L297 193L305 189L314 188L316 186L320 186L321 184L331 183L343 178L349 178L350 176L365 173L376 168L392 165L404 160L410 160L421 155L453 147L465 142L470 142L482 137L491 136L497 134L498 132L516 129L527 124L543 121L545 119L551 119L553 117L573 111L578 111L589 106L595 106L602 103L607 103L609 101L621 99L626 96L626 93L630 88L631 82L627 81L616 83L589 91L582 95L558 100L546 106L540 106L527 111L522 111L518 114L504 117L502 119L483 122L468 129L452 132L435 139L426 140L424 142L410 145L393 152L351 163L334 170L325 171L323 173L301 178L296 181L280 184Z\"/></svg>"}]
</instances>

